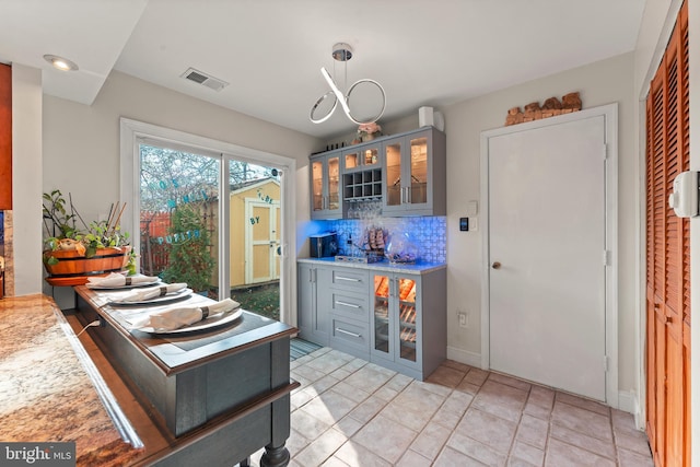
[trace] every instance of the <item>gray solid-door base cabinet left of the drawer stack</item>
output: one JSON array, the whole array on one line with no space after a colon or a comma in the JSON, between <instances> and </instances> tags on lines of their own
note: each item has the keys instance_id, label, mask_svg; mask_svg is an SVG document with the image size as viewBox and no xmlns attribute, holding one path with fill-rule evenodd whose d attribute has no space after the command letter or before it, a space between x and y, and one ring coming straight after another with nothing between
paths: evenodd
<instances>
[{"instance_id":1,"label":"gray solid-door base cabinet left of the drawer stack","mask_svg":"<svg viewBox=\"0 0 700 467\"><path fill-rule=\"evenodd\" d=\"M317 265L296 265L296 327L299 336L319 346L328 345L328 278L330 270ZM320 295L320 300L319 299Z\"/></svg>"}]
</instances>

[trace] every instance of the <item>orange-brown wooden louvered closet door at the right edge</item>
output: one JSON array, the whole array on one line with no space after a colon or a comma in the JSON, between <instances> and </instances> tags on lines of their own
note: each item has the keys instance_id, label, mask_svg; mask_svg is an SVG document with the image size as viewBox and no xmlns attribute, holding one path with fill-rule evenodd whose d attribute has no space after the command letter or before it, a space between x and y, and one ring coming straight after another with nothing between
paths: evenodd
<instances>
[{"instance_id":1,"label":"orange-brown wooden louvered closet door at the right edge","mask_svg":"<svg viewBox=\"0 0 700 467\"><path fill-rule=\"evenodd\" d=\"M690 462L689 222L667 203L689 167L687 83L684 5L646 101L646 429L657 466Z\"/></svg>"}]
</instances>

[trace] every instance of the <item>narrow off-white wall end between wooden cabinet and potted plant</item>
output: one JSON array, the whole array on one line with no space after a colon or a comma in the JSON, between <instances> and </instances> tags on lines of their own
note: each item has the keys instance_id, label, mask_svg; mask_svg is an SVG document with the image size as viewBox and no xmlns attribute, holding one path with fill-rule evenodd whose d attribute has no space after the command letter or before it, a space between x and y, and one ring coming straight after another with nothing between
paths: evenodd
<instances>
[{"instance_id":1,"label":"narrow off-white wall end between wooden cabinet and potted plant","mask_svg":"<svg viewBox=\"0 0 700 467\"><path fill-rule=\"evenodd\" d=\"M14 294L42 292L42 70L12 65Z\"/></svg>"}]
</instances>

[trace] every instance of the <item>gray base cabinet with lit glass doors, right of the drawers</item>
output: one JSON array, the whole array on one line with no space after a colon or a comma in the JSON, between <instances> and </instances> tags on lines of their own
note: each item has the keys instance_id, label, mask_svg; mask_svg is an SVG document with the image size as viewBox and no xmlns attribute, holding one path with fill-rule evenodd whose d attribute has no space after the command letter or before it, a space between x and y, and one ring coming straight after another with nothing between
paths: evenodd
<instances>
[{"instance_id":1,"label":"gray base cabinet with lit glass doors, right of the drawers","mask_svg":"<svg viewBox=\"0 0 700 467\"><path fill-rule=\"evenodd\" d=\"M370 360L417 380L446 358L446 273L371 276Z\"/></svg>"}]
</instances>

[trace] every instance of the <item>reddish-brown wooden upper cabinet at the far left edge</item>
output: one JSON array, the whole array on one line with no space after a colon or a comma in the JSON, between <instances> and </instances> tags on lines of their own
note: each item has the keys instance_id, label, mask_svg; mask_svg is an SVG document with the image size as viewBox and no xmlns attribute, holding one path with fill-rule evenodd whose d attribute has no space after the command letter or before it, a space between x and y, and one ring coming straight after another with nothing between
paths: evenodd
<instances>
[{"instance_id":1,"label":"reddish-brown wooden upper cabinet at the far left edge","mask_svg":"<svg viewBox=\"0 0 700 467\"><path fill-rule=\"evenodd\" d=\"M12 209L12 68L0 63L0 210Z\"/></svg>"}]
</instances>

